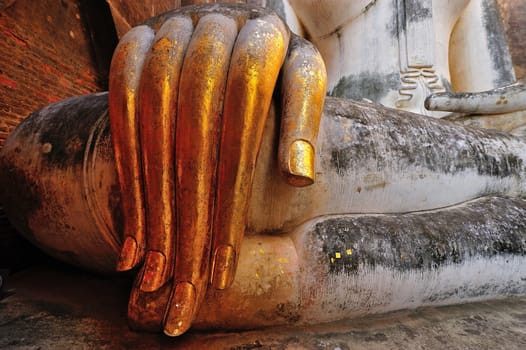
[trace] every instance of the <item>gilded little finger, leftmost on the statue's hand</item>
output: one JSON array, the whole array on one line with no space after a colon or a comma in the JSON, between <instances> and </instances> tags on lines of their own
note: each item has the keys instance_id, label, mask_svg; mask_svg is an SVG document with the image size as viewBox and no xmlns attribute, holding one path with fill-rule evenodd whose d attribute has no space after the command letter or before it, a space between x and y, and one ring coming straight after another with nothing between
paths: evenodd
<instances>
[{"instance_id":1,"label":"gilded little finger, leftmost on the statue's hand","mask_svg":"<svg viewBox=\"0 0 526 350\"><path fill-rule=\"evenodd\" d=\"M136 266L144 254L145 215L137 96L140 72L153 36L147 26L133 28L119 42L111 62L110 128L124 218L124 244L117 263L119 271Z\"/></svg>"}]
</instances>

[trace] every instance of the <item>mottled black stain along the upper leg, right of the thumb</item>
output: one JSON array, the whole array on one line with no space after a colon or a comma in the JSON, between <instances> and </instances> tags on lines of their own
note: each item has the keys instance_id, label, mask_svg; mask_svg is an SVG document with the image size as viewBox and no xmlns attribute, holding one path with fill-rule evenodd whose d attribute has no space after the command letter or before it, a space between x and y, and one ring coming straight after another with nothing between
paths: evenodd
<instances>
[{"instance_id":1,"label":"mottled black stain along the upper leg, right of the thumb","mask_svg":"<svg viewBox=\"0 0 526 350\"><path fill-rule=\"evenodd\" d=\"M334 143L330 164L340 175L351 169L381 172L409 167L454 175L474 170L481 176L522 178L525 164L513 149L518 140L494 130L463 127L413 113L353 102L327 104L326 114L349 119L348 137Z\"/></svg>"}]
</instances>

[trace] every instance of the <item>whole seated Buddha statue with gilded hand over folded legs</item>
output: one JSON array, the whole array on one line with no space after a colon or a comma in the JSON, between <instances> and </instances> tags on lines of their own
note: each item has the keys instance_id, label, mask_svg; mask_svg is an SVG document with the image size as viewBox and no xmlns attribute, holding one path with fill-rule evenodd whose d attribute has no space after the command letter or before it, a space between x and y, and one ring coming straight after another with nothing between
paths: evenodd
<instances>
[{"instance_id":1,"label":"whole seated Buddha statue with gilded hand over folded legs","mask_svg":"<svg viewBox=\"0 0 526 350\"><path fill-rule=\"evenodd\" d=\"M466 15L489 2L279 4L319 51L241 5L130 30L108 94L5 143L15 226L64 261L137 268L131 324L172 336L526 292L526 143L445 120L526 108L495 42L484 76L457 53L460 28L489 37Z\"/></svg>"}]
</instances>

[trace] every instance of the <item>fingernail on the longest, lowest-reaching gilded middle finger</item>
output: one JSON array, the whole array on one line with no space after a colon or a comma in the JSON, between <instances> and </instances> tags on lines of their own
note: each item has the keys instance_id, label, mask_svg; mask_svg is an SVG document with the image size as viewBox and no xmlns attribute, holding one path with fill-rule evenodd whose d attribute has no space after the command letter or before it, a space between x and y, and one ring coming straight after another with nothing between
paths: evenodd
<instances>
[{"instance_id":1,"label":"fingernail on the longest, lowest-reaching gilded middle finger","mask_svg":"<svg viewBox=\"0 0 526 350\"><path fill-rule=\"evenodd\" d=\"M186 332L194 318L195 288L190 282L179 282L164 321L164 333L177 337Z\"/></svg>"}]
</instances>

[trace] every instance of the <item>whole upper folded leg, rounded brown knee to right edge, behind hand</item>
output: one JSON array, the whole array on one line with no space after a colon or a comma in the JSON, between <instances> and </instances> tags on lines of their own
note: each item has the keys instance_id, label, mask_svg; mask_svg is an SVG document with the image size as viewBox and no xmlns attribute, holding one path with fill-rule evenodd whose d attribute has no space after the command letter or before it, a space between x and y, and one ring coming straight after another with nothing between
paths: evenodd
<instances>
[{"instance_id":1,"label":"whole upper folded leg, rounded brown knee to right edge, behind hand","mask_svg":"<svg viewBox=\"0 0 526 350\"><path fill-rule=\"evenodd\" d=\"M112 271L107 262L116 259L123 219L107 107L107 94L76 97L22 122L2 149L2 197L18 230L45 250ZM249 232L290 231L326 214L431 210L526 191L526 144L501 132L329 99L317 181L303 189L275 171L274 130L266 132ZM106 262L90 255L97 252Z\"/></svg>"}]
</instances>

